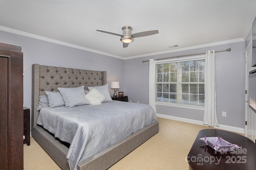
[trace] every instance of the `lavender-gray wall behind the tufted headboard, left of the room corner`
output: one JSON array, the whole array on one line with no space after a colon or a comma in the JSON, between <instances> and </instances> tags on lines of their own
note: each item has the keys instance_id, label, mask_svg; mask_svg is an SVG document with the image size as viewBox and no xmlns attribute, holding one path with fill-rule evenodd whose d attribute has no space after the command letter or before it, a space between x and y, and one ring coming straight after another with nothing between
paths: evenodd
<instances>
[{"instance_id":1,"label":"lavender-gray wall behind the tufted headboard, left of the room corner","mask_svg":"<svg viewBox=\"0 0 256 170\"><path fill-rule=\"evenodd\" d=\"M97 53L75 49L30 37L24 37L5 31L0 31L0 42L20 45L23 52L23 92L24 105L31 107L32 96L32 64L47 66L61 66L80 68L86 70L107 71L107 83L110 88L111 81L119 81L120 89L124 89L124 60ZM114 90L110 89L110 94Z\"/></svg>"}]
</instances>

